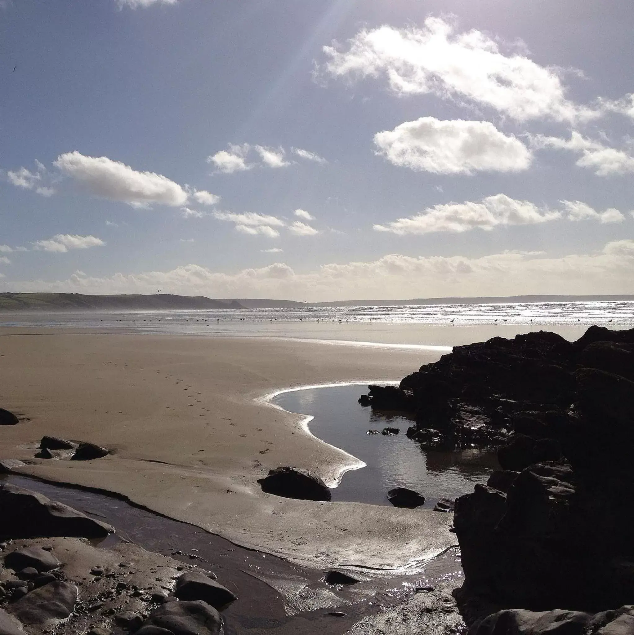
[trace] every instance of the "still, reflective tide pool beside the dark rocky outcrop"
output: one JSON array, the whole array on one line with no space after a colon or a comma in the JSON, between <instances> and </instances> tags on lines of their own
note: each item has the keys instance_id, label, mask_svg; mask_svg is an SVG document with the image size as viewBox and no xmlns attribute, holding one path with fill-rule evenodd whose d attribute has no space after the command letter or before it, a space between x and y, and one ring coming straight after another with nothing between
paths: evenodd
<instances>
[{"instance_id":1,"label":"still, reflective tide pool beside the dark rocky outcrop","mask_svg":"<svg viewBox=\"0 0 634 635\"><path fill-rule=\"evenodd\" d=\"M273 403L290 412L313 415L309 423L318 438L346 450L367 464L344 474L333 500L389 505L386 495L395 487L418 491L433 507L438 498L456 498L485 483L497 469L495 453L423 450L405 436L412 421L401 415L379 415L357 403L366 385L323 387L284 392ZM370 429L398 427L396 436L367 434Z\"/></svg>"}]
</instances>

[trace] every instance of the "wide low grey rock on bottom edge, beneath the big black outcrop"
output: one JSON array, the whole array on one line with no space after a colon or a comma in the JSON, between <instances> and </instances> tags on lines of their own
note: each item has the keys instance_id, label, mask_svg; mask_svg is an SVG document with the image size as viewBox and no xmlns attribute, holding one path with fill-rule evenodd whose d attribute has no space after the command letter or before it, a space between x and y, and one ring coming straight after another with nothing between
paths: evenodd
<instances>
[{"instance_id":1,"label":"wide low grey rock on bottom edge, beneath the big black outcrop","mask_svg":"<svg viewBox=\"0 0 634 635\"><path fill-rule=\"evenodd\" d=\"M576 611L533 613L511 609L489 615L469 630L469 635L583 635L592 615Z\"/></svg>"}]
</instances>

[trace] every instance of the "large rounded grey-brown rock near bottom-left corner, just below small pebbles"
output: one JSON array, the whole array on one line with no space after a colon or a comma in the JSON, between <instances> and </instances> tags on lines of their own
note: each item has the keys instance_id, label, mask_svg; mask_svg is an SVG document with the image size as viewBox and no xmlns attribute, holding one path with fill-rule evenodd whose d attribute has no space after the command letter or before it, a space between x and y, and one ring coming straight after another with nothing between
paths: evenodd
<instances>
[{"instance_id":1,"label":"large rounded grey-brown rock near bottom-left corner, just below small pebbles","mask_svg":"<svg viewBox=\"0 0 634 635\"><path fill-rule=\"evenodd\" d=\"M55 580L19 599L12 606L12 612L22 624L44 626L53 619L69 617L76 601L77 587Z\"/></svg>"}]
</instances>

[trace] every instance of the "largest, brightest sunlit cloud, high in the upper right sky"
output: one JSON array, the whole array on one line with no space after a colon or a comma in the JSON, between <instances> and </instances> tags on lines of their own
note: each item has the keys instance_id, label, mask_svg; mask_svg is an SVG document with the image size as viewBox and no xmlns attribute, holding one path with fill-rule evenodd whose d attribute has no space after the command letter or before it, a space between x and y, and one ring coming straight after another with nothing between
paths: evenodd
<instances>
[{"instance_id":1,"label":"largest, brightest sunlit cloud, high in the upper right sky","mask_svg":"<svg viewBox=\"0 0 634 635\"><path fill-rule=\"evenodd\" d=\"M482 31L455 32L443 18L424 27L362 29L346 51L325 46L325 70L335 77L386 76L399 95L432 93L491 107L518 121L548 117L575 121L598 116L596 110L566 97L560 71L525 55L504 55Z\"/></svg>"}]
</instances>

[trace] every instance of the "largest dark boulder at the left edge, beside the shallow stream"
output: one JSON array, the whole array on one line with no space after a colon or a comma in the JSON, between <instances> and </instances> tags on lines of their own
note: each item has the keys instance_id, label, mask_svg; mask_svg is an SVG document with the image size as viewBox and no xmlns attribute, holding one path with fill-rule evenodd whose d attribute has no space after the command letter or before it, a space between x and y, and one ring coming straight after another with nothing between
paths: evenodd
<instances>
[{"instance_id":1,"label":"largest dark boulder at the left edge, beside the shallow stream","mask_svg":"<svg viewBox=\"0 0 634 635\"><path fill-rule=\"evenodd\" d=\"M13 538L103 538L112 531L110 525L88 518L72 507L10 483L0 485L0 518L2 533Z\"/></svg>"}]
</instances>

